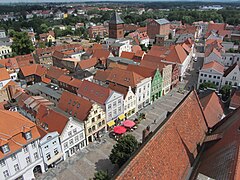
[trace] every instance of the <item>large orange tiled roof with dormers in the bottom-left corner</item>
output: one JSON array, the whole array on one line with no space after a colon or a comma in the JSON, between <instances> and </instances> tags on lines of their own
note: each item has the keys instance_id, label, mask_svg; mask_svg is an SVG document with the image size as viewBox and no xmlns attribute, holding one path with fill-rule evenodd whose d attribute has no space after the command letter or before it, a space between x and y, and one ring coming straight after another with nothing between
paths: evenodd
<instances>
[{"instance_id":1,"label":"large orange tiled roof with dormers in the bottom-left corner","mask_svg":"<svg viewBox=\"0 0 240 180\"><path fill-rule=\"evenodd\" d=\"M32 139L26 140L23 136L25 130L31 130ZM36 125L18 112L0 110L0 144L8 143L10 152L3 154L0 159L23 148L29 142L40 137Z\"/></svg>"}]
</instances>

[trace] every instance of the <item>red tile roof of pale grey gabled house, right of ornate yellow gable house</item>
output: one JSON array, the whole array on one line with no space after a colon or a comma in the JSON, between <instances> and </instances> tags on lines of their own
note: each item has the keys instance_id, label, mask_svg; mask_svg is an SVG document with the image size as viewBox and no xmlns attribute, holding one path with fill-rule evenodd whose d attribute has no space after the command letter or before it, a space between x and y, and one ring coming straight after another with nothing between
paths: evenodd
<instances>
[{"instance_id":1,"label":"red tile roof of pale grey gabled house, right of ornate yellow gable house","mask_svg":"<svg viewBox=\"0 0 240 180\"><path fill-rule=\"evenodd\" d=\"M104 105L112 91L109 88L84 80L77 93L80 96Z\"/></svg>"}]
</instances>

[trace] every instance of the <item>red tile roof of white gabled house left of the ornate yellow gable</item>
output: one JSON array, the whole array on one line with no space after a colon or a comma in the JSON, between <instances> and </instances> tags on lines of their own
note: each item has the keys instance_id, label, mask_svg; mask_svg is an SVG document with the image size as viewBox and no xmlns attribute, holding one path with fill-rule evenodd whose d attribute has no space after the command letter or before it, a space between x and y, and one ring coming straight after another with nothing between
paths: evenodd
<instances>
[{"instance_id":1,"label":"red tile roof of white gabled house left of the ornate yellow gable","mask_svg":"<svg viewBox=\"0 0 240 180\"><path fill-rule=\"evenodd\" d=\"M38 109L36 119L41 127L47 124L48 132L57 131L59 134L62 133L69 120L65 115L42 105Z\"/></svg>"}]
</instances>

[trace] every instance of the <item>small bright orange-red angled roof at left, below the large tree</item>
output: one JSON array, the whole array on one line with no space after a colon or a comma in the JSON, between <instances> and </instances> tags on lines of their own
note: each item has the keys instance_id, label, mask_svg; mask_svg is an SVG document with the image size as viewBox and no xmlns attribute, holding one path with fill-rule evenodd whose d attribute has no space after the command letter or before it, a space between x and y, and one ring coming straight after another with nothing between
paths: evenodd
<instances>
[{"instance_id":1,"label":"small bright orange-red angled roof at left, below the large tree","mask_svg":"<svg viewBox=\"0 0 240 180\"><path fill-rule=\"evenodd\" d=\"M30 76L30 75L38 75L38 76L43 76L47 72L47 68L40 64L32 64L28 66L23 66L20 68L21 72L23 75Z\"/></svg>"}]
</instances>

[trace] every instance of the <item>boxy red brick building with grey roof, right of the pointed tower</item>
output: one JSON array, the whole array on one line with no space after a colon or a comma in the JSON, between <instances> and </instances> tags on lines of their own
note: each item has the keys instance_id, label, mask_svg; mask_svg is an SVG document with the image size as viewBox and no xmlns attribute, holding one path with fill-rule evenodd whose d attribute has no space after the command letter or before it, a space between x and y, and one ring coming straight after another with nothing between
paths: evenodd
<instances>
[{"instance_id":1,"label":"boxy red brick building with grey roof, right of the pointed tower","mask_svg":"<svg viewBox=\"0 0 240 180\"><path fill-rule=\"evenodd\" d=\"M156 35L168 37L170 33L170 22L166 19L153 19L147 24L147 34L150 39L155 39Z\"/></svg>"}]
</instances>

